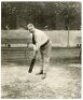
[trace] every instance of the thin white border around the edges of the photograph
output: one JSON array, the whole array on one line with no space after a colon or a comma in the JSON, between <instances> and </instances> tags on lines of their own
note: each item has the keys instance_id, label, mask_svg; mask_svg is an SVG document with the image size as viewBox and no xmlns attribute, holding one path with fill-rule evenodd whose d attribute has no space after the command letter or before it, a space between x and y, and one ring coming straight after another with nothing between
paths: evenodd
<instances>
[{"instance_id":1,"label":"thin white border around the edges of the photograph","mask_svg":"<svg viewBox=\"0 0 83 100\"><path fill-rule=\"evenodd\" d=\"M35 1L37 1L37 2L41 2L41 1L45 1L45 2L49 2L49 1L50 2L69 2L70 1L70 2L81 2L82 6L83 6L83 0L0 0L0 11L1 11L1 2L18 2L18 1L19 2L30 2L30 1L33 1L33 2L35 2ZM82 11L83 11L83 7L82 7ZM83 13L82 13L81 18L82 17L83 17ZM1 12L0 12L0 22L1 22ZM83 20L81 22L82 22L82 28L81 28L82 31L81 32L83 32ZM82 34L82 36L83 36L83 34ZM83 43L83 38L82 38L82 43ZM83 47L82 47L82 51L83 51ZM82 56L83 56L83 54L82 54ZM1 57L1 24L0 24L0 57ZM83 64L83 62L82 62L82 64ZM82 67L82 65L81 65L81 67ZM82 78L83 78L83 68L82 68L81 73L82 73ZM82 79L82 83L83 83L83 79ZM82 94L83 94L83 88L81 89L81 96L82 96ZM1 59L0 59L0 98L1 98ZM81 99L82 99L82 97L81 97ZM4 99L4 100L7 100L7 99ZM13 100L13 99L10 99L10 100ZM16 100L18 100L18 99L16 99ZM21 99L21 100L24 100L24 99ZM29 99L27 99L27 100L29 100ZM32 99L32 100L34 100L34 99ZM36 100L43 100L43 99L36 99ZM48 100L48 99L46 99L46 100ZM52 99L50 99L50 100L52 100ZM58 99L56 99L56 100L58 100ZM59 99L59 100L62 100L62 99ZM69 99L69 100L71 100L71 99ZM73 99L73 100L75 100L75 99ZM80 99L76 99L76 100L80 100Z\"/></svg>"}]
</instances>

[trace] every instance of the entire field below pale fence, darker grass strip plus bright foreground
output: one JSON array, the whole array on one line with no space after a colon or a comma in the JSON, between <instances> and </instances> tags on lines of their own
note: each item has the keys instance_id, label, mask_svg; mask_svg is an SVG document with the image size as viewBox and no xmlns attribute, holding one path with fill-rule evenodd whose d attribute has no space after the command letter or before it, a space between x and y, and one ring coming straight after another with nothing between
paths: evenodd
<instances>
[{"instance_id":1,"label":"entire field below pale fence, darker grass strip plus bright foreground","mask_svg":"<svg viewBox=\"0 0 83 100\"><path fill-rule=\"evenodd\" d=\"M81 98L80 48L52 51L47 78L42 80L41 75L36 75L38 62L33 72L28 73L29 59L24 59L23 48L2 48L2 98Z\"/></svg>"}]
</instances>

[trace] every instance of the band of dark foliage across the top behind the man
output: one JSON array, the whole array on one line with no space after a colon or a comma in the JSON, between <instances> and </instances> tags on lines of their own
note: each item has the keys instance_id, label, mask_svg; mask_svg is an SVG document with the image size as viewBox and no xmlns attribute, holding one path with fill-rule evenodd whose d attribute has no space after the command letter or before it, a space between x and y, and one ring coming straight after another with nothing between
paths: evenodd
<instances>
[{"instance_id":1,"label":"band of dark foliage across the top behind the man","mask_svg":"<svg viewBox=\"0 0 83 100\"><path fill-rule=\"evenodd\" d=\"M80 2L2 2L1 9L3 29L24 27L30 22L38 28L57 29L59 23L58 27L65 29L72 23L74 29L80 29Z\"/></svg>"}]
</instances>

